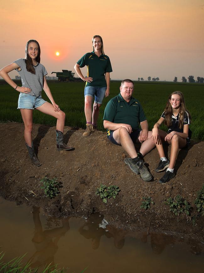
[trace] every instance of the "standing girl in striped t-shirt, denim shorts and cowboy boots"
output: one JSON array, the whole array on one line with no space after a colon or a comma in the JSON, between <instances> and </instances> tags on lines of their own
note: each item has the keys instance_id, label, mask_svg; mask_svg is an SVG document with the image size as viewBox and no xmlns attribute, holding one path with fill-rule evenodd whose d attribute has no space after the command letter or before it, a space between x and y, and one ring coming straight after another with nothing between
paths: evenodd
<instances>
[{"instance_id":1,"label":"standing girl in striped t-shirt, denim shorts and cowboy boots","mask_svg":"<svg viewBox=\"0 0 204 273\"><path fill-rule=\"evenodd\" d=\"M15 82L8 76L8 73L16 70L19 72L22 81L22 87L16 85ZM25 59L19 59L3 67L0 70L0 75L4 78L11 87L20 92L18 109L21 111L21 116L24 122L24 138L25 144L29 151L31 162L35 166L40 166L40 162L35 155L32 128L33 128L33 110L39 110L45 114L57 118L56 124L56 142L57 151L71 150L72 147L65 145L63 141L63 130L65 122L65 113L62 112L59 106L55 103L50 88L46 82L47 71L40 64L40 45L35 40L30 40L25 47ZM42 89L51 101L51 104L41 97Z\"/></svg>"}]
</instances>

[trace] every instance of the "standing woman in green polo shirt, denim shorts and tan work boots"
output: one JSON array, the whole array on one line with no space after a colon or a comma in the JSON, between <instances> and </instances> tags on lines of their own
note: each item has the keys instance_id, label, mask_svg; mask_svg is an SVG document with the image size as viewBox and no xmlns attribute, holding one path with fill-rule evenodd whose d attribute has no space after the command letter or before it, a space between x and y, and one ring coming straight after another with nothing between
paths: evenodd
<instances>
[{"instance_id":1,"label":"standing woman in green polo shirt, denim shorts and tan work boots","mask_svg":"<svg viewBox=\"0 0 204 273\"><path fill-rule=\"evenodd\" d=\"M104 54L103 40L99 35L92 38L93 51L86 53L74 65L78 76L86 82L84 88L85 105L84 112L86 116L86 130L83 137L87 137L96 130L96 124L99 117L99 108L104 97L110 93L110 72L112 67L110 59ZM84 77L80 68L87 66L88 74ZM92 101L94 105L92 111Z\"/></svg>"}]
</instances>

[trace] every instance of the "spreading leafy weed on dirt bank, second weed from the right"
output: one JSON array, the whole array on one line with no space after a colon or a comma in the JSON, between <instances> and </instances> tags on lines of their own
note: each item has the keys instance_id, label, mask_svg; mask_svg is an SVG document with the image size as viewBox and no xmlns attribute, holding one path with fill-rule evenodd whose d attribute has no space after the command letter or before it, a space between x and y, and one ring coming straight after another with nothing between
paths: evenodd
<instances>
[{"instance_id":1,"label":"spreading leafy weed on dirt bank, second weed from the right","mask_svg":"<svg viewBox=\"0 0 204 273\"><path fill-rule=\"evenodd\" d=\"M177 195L174 200L169 197L165 204L169 206L170 211L172 211L175 215L179 215L180 213L190 215L191 205L180 195Z\"/></svg>"}]
</instances>

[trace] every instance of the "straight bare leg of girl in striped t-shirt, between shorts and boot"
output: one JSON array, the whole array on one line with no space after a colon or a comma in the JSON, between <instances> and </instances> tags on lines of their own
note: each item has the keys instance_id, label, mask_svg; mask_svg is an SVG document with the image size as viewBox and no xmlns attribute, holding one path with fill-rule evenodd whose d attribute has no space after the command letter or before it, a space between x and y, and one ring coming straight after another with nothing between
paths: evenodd
<instances>
[{"instance_id":1,"label":"straight bare leg of girl in striped t-shirt, between shorts and boot","mask_svg":"<svg viewBox=\"0 0 204 273\"><path fill-rule=\"evenodd\" d=\"M20 109L21 116L24 122L24 138L28 146L32 146L32 129L33 129L33 110Z\"/></svg>"}]
</instances>

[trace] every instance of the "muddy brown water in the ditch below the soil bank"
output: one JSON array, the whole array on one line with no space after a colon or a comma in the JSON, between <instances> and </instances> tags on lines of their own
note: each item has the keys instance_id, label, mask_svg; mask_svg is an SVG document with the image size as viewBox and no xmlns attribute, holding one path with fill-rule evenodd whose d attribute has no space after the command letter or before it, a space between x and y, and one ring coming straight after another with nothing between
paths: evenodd
<instances>
[{"instance_id":1,"label":"muddy brown water in the ditch below the soil bank","mask_svg":"<svg viewBox=\"0 0 204 273\"><path fill-rule=\"evenodd\" d=\"M204 272L204 244L165 234L127 232L103 216L56 219L0 197L0 251L4 261L26 254L33 267L59 264L67 272ZM104 225L101 228L99 224Z\"/></svg>"}]
</instances>

